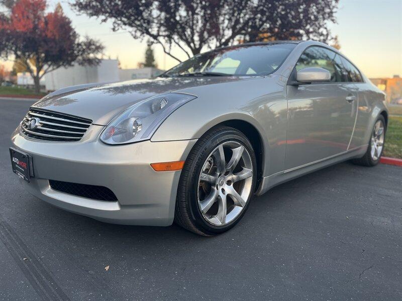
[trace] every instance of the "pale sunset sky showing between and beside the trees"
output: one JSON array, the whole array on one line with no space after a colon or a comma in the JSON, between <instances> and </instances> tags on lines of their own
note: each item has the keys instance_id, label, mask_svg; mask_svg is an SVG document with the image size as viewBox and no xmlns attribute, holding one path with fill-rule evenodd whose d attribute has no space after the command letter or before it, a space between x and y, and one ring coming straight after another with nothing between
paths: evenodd
<instances>
[{"instance_id":1,"label":"pale sunset sky showing between and beside the trees","mask_svg":"<svg viewBox=\"0 0 402 301\"><path fill-rule=\"evenodd\" d=\"M68 1L48 1L48 10L61 3L64 14L81 36L88 35L105 45L105 58L119 58L121 67L137 68L144 60L146 40L134 40L129 29L113 32L112 23L77 15ZM402 0L340 0L337 24L331 24L338 36L340 51L369 78L402 76ZM160 69L170 69L177 61L155 45L154 54ZM173 49L182 60L186 56ZM10 66L10 62L7 64Z\"/></svg>"}]
</instances>

